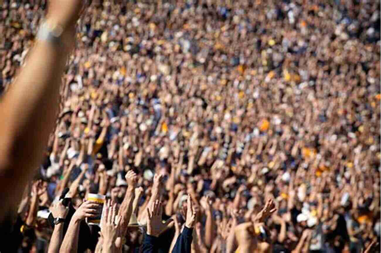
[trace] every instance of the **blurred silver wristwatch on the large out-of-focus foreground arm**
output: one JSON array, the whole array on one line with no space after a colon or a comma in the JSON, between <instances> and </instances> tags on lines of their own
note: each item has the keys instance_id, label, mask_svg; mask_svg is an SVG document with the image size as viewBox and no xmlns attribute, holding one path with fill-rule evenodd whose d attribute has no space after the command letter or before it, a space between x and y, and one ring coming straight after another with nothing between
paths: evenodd
<instances>
[{"instance_id":1,"label":"blurred silver wristwatch on the large out-of-focus foreground arm","mask_svg":"<svg viewBox=\"0 0 381 253\"><path fill-rule=\"evenodd\" d=\"M37 39L45 40L54 45L62 46L61 35L64 29L52 20L45 20L38 29Z\"/></svg>"}]
</instances>

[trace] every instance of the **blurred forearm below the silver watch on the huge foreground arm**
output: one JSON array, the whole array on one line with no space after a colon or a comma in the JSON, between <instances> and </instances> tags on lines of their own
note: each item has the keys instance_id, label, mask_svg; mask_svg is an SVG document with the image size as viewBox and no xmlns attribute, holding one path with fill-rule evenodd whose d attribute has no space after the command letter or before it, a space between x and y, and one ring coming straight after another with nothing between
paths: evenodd
<instances>
[{"instance_id":1,"label":"blurred forearm below the silver watch on the huge foreground arm","mask_svg":"<svg viewBox=\"0 0 381 253\"><path fill-rule=\"evenodd\" d=\"M59 85L67 55L68 51L50 42L37 41L26 66L0 102L0 115L6 119L0 124L0 175L7 178L0 192L12 202L12 186L24 185L42 160L58 111ZM41 108L45 108L43 113ZM22 173L14 172L21 170Z\"/></svg>"}]
</instances>

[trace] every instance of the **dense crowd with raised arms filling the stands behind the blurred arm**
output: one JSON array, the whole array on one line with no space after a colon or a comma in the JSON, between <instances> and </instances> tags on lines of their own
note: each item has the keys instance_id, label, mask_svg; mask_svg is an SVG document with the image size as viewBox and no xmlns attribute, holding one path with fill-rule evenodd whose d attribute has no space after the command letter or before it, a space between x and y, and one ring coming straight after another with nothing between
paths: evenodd
<instances>
[{"instance_id":1,"label":"dense crowd with raised arms filling the stands behind the blurred arm","mask_svg":"<svg viewBox=\"0 0 381 253\"><path fill-rule=\"evenodd\" d=\"M6 92L45 2L0 2ZM379 10L374 0L93 0L19 205L18 243L4 252L377 245ZM91 193L109 199L101 228L86 224L99 215Z\"/></svg>"}]
</instances>

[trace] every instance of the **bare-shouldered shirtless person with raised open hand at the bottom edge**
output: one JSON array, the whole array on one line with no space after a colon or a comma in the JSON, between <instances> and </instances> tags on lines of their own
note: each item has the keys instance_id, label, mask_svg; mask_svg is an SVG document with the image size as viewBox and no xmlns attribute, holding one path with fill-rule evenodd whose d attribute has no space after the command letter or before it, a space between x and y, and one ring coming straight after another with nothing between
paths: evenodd
<instances>
[{"instance_id":1,"label":"bare-shouldered shirtless person with raised open hand at the bottom edge","mask_svg":"<svg viewBox=\"0 0 381 253\"><path fill-rule=\"evenodd\" d=\"M234 229L234 239L238 244L236 253L269 253L272 245L269 241L270 233L264 221L276 211L274 200L266 202L259 213L251 215L251 221L239 224Z\"/></svg>"}]
</instances>

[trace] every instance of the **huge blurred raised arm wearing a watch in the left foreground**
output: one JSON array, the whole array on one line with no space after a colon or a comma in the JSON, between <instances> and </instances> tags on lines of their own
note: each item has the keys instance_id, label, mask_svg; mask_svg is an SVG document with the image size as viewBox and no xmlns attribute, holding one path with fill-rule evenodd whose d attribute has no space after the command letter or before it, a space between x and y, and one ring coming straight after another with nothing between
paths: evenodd
<instances>
[{"instance_id":1,"label":"huge blurred raised arm wearing a watch in the left foreground","mask_svg":"<svg viewBox=\"0 0 381 253\"><path fill-rule=\"evenodd\" d=\"M0 115L5 119L0 124L0 219L19 202L43 158L82 5L79 0L49 2L46 25L40 29L26 65L0 102ZM53 35L60 33L59 38ZM41 108L45 108L43 113Z\"/></svg>"}]
</instances>

